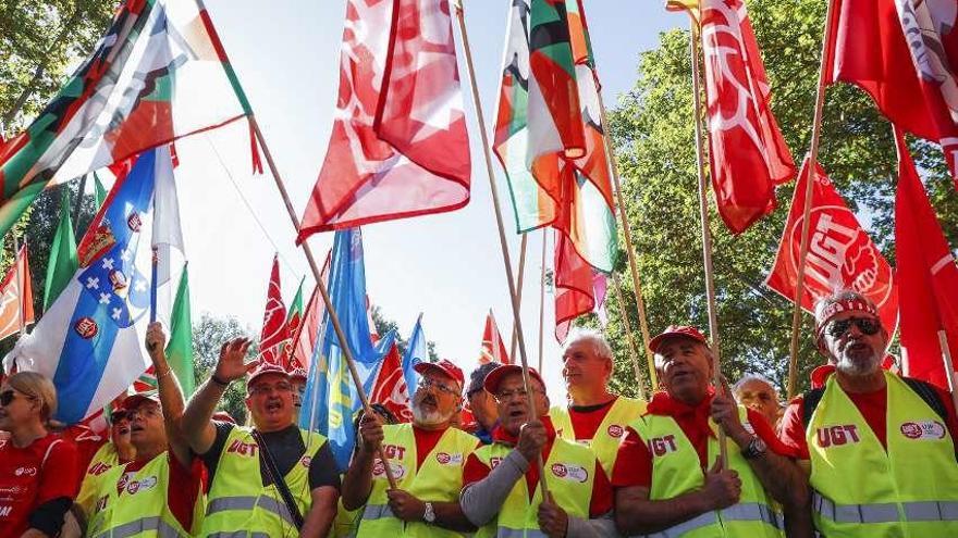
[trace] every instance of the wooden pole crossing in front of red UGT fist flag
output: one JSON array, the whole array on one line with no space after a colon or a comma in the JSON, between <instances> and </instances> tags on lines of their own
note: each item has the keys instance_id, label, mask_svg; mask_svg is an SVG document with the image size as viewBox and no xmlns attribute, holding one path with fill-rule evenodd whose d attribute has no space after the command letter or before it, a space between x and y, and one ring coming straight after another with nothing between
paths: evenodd
<instances>
[{"instance_id":1,"label":"wooden pole crossing in front of red UGT fist flag","mask_svg":"<svg viewBox=\"0 0 958 538\"><path fill-rule=\"evenodd\" d=\"M815 93L815 112L812 116L812 139L808 157L808 179L805 185L805 212L801 217L801 248L798 254L798 275L795 284L795 297L791 308L791 342L788 353L788 385L786 392L788 400L795 398L795 387L798 381L798 331L801 328L801 298L805 295L805 264L809 251L809 229L812 210L812 193L815 185L814 177L819 162L819 140L822 135L822 114L825 108L825 73L828 70L828 41L832 28L832 18L835 16L834 1L828 0L825 14L825 32L822 38L822 60L819 66L819 89Z\"/></svg>"}]
</instances>

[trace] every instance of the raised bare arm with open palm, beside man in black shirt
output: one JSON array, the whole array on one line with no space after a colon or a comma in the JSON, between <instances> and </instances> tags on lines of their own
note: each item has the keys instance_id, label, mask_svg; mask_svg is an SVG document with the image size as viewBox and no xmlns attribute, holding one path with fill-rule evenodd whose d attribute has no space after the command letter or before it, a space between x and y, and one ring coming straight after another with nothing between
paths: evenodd
<instances>
[{"instance_id":1,"label":"raised bare arm with open palm, beside man in black shirt","mask_svg":"<svg viewBox=\"0 0 958 538\"><path fill-rule=\"evenodd\" d=\"M246 350L249 349L248 338L235 338L220 348L220 359L209 379L204 383L186 405L183 413L182 428L186 441L197 454L209 451L217 438L217 429L212 424L213 412L226 388L256 366L246 364Z\"/></svg>"}]
</instances>

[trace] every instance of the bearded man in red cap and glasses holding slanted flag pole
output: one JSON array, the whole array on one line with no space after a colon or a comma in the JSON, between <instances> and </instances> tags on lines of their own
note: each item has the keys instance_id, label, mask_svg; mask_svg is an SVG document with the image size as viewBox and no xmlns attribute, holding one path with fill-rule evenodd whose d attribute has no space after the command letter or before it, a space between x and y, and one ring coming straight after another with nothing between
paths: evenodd
<instances>
[{"instance_id":1,"label":"bearded man in red cap and glasses holding slanted flag pole","mask_svg":"<svg viewBox=\"0 0 958 538\"><path fill-rule=\"evenodd\" d=\"M463 404L463 371L450 361L415 366L422 378L413 396L413 423L383 425L363 417L343 478L343 508L363 509L356 536L460 537L476 529L459 509L463 466L479 446L450 427ZM380 450L396 480L392 489Z\"/></svg>"}]
</instances>

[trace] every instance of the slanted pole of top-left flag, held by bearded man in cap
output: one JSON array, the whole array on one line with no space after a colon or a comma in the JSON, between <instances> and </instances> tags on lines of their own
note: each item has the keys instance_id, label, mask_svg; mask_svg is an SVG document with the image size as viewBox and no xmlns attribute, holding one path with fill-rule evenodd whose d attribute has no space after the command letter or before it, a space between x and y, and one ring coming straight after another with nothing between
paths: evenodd
<instances>
[{"instance_id":1,"label":"slanted pole of top-left flag, held by bearded man in cap","mask_svg":"<svg viewBox=\"0 0 958 538\"><path fill-rule=\"evenodd\" d=\"M256 121L256 116L249 116L249 124L253 125L253 130L256 134L256 139L259 142L260 148L262 148L262 153L266 157L267 165L270 168L270 173L273 176L273 180L277 184L277 188L280 190L280 196L283 198L283 203L286 205L286 212L290 214L290 220L293 222L293 227L296 230L299 230L299 217L296 216L296 210L293 209L293 202L290 200L290 193L286 191L286 185L283 183L283 178L280 176L280 171L277 168L277 164L273 161L272 152L270 152L269 146L266 143L266 139L262 136L262 130L259 128L259 122ZM356 360L353 358L353 352L349 350L348 341L346 339L346 334L343 331L343 326L340 324L340 316L336 314L336 310L333 306L333 302L330 299L329 290L326 288L326 284L322 281L322 273L319 270L319 265L316 263L316 258L312 255L312 250L309 248L309 242L303 241L300 245L303 248L303 252L306 254L306 260L309 262L309 268L312 270L312 276L316 278L316 289L319 290L319 295L322 298L322 302L326 305L326 310L329 313L329 320L332 323L333 330L336 333L336 338L340 340L340 348L343 351L343 356L346 359L346 365L349 368L349 375L353 377L353 384L356 386L356 393L359 395L359 401L363 402L363 408L367 414L371 414L372 408L369 406L369 398L366 396L366 390L363 389L363 380L359 378L359 372L356 370ZM385 458L385 453L383 449L380 447L379 449L379 459L382 461L383 468L385 470L386 478L389 479L390 487L396 488L396 478L393 475L392 466L389 463L389 460Z\"/></svg>"}]
</instances>

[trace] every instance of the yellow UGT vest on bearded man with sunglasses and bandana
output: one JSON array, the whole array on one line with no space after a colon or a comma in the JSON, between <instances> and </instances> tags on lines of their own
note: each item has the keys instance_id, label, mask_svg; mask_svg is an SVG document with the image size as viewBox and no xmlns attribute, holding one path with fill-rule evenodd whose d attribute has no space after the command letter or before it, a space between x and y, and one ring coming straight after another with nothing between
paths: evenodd
<instances>
[{"instance_id":1,"label":"yellow UGT vest on bearded man with sunglasses and bandana","mask_svg":"<svg viewBox=\"0 0 958 538\"><path fill-rule=\"evenodd\" d=\"M823 536L958 536L958 463L947 424L901 378L887 384L885 440L835 376L806 430Z\"/></svg>"}]
</instances>

